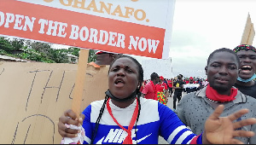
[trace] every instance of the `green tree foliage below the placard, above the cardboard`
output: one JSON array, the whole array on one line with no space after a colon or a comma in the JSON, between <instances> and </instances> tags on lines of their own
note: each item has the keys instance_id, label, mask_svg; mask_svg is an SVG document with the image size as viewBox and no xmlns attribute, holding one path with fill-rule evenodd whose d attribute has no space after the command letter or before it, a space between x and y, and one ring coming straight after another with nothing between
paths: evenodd
<instances>
[{"instance_id":1,"label":"green tree foliage below the placard, above the cardboard","mask_svg":"<svg viewBox=\"0 0 256 145\"><path fill-rule=\"evenodd\" d=\"M24 39L0 37L0 55L9 55L15 58L47 63L71 63L75 58L68 60L69 55L79 58L79 48L52 49L51 44L34 42ZM96 51L90 49L88 62L96 61Z\"/></svg>"}]
</instances>

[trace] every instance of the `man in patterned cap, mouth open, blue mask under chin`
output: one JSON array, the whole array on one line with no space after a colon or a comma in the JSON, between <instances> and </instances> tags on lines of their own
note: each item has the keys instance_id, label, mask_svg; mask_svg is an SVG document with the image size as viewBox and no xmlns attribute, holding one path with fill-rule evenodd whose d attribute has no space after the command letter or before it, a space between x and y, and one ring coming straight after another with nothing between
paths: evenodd
<instances>
[{"instance_id":1,"label":"man in patterned cap, mouth open, blue mask under chin","mask_svg":"<svg viewBox=\"0 0 256 145\"><path fill-rule=\"evenodd\" d=\"M239 77L235 87L243 94L256 98L256 49L252 45L241 44L233 50L240 60Z\"/></svg>"}]
</instances>

